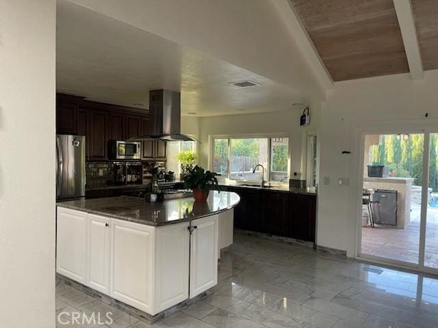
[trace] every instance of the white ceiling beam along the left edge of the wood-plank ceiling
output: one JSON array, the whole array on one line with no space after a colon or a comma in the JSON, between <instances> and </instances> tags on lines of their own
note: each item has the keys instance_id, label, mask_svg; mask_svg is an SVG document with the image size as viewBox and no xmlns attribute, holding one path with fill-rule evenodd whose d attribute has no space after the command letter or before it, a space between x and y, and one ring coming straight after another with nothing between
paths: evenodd
<instances>
[{"instance_id":1,"label":"white ceiling beam along the left edge of the wood-plank ceiling","mask_svg":"<svg viewBox=\"0 0 438 328\"><path fill-rule=\"evenodd\" d=\"M333 79L318 51L315 49L315 45L309 37L306 28L302 25L300 18L298 18L294 5L292 5L289 0L273 0L272 3L283 17L289 32L294 37L296 45L307 60L313 74L315 74L315 77L321 83L324 90L326 90L326 92L334 90L335 85L333 84Z\"/></svg>"}]
</instances>

